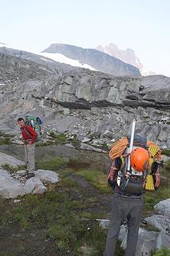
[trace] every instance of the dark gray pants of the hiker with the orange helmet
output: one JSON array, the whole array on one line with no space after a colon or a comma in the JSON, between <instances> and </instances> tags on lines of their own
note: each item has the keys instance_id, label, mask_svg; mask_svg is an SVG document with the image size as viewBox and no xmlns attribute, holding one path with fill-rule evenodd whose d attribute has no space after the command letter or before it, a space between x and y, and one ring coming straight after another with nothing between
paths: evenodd
<instances>
[{"instance_id":1,"label":"dark gray pants of the hiker with the orange helmet","mask_svg":"<svg viewBox=\"0 0 170 256\"><path fill-rule=\"evenodd\" d=\"M128 220L128 238L125 256L135 256L138 230L143 210L142 197L130 197L113 194L110 226L106 240L104 256L114 256L121 222Z\"/></svg>"}]
</instances>

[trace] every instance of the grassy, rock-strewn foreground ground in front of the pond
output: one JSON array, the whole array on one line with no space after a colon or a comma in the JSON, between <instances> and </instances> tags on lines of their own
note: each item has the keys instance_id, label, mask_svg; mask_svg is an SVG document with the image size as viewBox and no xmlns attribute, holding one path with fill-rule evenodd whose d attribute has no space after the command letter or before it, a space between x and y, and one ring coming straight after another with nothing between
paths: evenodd
<instances>
[{"instance_id":1,"label":"grassy, rock-strewn foreground ground in front of the pond","mask_svg":"<svg viewBox=\"0 0 170 256\"><path fill-rule=\"evenodd\" d=\"M102 224L99 219L109 219L112 191L105 186L105 177L101 171L81 170L80 166L80 169L73 170L60 161L61 166L65 166L63 169L58 162L51 165L51 161L47 161L53 171L37 170L36 177L26 181L23 176L25 171L16 169L23 162L2 153L0 162L0 181L3 180L1 195L9 198L1 199L0 204L2 255L12 255L11 252L17 256L102 255L107 230L101 229L99 224L105 226L105 222L102 221ZM8 171L3 170L5 168ZM14 185L6 186L6 182L11 182L11 179L24 187L24 190L19 190L20 196L16 194ZM168 195L166 182L160 190L145 195L144 215L150 213L151 217L146 218L148 225L145 229L143 226L140 228L136 256L140 256L141 251L148 254L162 245L170 245L170 199L157 201ZM154 206L155 210L149 206L151 202L152 206L159 202ZM120 239L123 247L126 234L127 228L122 226ZM123 255L120 247L117 248L117 255Z\"/></svg>"}]
</instances>

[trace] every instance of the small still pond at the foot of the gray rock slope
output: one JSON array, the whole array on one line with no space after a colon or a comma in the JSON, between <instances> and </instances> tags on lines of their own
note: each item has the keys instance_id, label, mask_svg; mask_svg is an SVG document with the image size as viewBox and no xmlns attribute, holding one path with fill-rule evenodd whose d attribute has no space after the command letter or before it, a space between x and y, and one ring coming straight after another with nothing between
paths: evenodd
<instances>
[{"instance_id":1,"label":"small still pond at the foot of the gray rock slope","mask_svg":"<svg viewBox=\"0 0 170 256\"><path fill-rule=\"evenodd\" d=\"M22 145L0 145L0 151L14 156L22 161L25 159L25 152ZM54 157L65 158L69 168L77 169L100 169L106 173L109 170L111 161L108 154L97 153L89 150L77 150L63 145L36 146L35 161L39 162Z\"/></svg>"}]
</instances>

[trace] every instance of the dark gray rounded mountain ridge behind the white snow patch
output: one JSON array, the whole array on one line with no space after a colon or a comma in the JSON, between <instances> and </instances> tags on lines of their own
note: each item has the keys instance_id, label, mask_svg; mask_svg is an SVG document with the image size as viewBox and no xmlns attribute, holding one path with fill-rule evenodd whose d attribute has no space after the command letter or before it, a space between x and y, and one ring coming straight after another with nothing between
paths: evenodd
<instances>
[{"instance_id":1,"label":"dark gray rounded mountain ridge behind the white snow patch","mask_svg":"<svg viewBox=\"0 0 170 256\"><path fill-rule=\"evenodd\" d=\"M84 49L77 46L56 43L42 52L63 54L67 58L78 60L81 63L92 66L95 70L108 74L140 76L140 70L135 66L122 62L120 59L105 54L100 50Z\"/></svg>"}]
</instances>

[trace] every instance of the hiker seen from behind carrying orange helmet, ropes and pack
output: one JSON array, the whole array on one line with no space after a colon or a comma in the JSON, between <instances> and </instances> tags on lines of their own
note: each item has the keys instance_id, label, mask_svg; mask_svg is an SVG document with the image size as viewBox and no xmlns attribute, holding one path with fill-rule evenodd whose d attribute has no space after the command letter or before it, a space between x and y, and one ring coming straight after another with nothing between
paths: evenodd
<instances>
[{"instance_id":1,"label":"hiker seen from behind carrying orange helmet, ropes and pack","mask_svg":"<svg viewBox=\"0 0 170 256\"><path fill-rule=\"evenodd\" d=\"M125 255L135 256L136 254L138 230L144 206L143 194L147 184L147 174L150 172L151 152L148 150L147 139L135 135L135 123L136 121L133 120L131 138L121 138L109 151L109 157L113 163L109 170L108 182L113 187L114 194L104 256L115 255L121 223L125 219L128 225ZM157 148L154 151L154 157L159 158L161 153L159 147L154 143L149 145L151 144ZM151 183L150 178L149 182Z\"/></svg>"}]
</instances>

